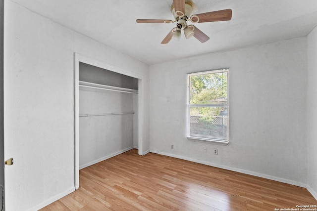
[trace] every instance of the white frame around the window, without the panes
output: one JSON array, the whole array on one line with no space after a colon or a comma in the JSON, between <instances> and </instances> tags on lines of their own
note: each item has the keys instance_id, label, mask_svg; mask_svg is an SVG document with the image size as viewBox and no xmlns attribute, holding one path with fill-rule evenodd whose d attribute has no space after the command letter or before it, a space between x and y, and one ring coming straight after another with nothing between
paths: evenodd
<instances>
[{"instance_id":1,"label":"white frame around the window, without the panes","mask_svg":"<svg viewBox=\"0 0 317 211\"><path fill-rule=\"evenodd\" d=\"M190 136L190 108L192 107L190 100L191 100L191 76L198 76L198 75L206 75L206 74L213 74L213 73L222 73L222 72L227 72L227 140L218 140L218 139L207 139L207 138L201 138L201 137L192 137ZM197 106L197 105L196 105ZM206 105L202 105L206 106ZM215 105L209 105L207 106L215 106ZM215 144L221 144L221 145L227 145L229 144L229 69L224 68L224 69L217 69L217 70L210 70L210 71L204 71L204 72L195 72L195 73L188 73L187 74L187 139L192 140L192 141L199 141L199 142L208 142L208 143L215 143Z\"/></svg>"}]
</instances>

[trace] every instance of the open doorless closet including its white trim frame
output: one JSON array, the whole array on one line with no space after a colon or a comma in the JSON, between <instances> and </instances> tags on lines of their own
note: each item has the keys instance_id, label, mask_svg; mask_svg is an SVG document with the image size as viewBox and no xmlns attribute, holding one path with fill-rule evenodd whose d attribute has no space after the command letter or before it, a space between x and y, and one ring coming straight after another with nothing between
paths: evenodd
<instances>
[{"instance_id":1,"label":"open doorless closet including its white trim frame","mask_svg":"<svg viewBox=\"0 0 317 211\"><path fill-rule=\"evenodd\" d=\"M142 147L142 76L75 53L74 186L79 169ZM141 117L141 118L140 118Z\"/></svg>"}]
</instances>

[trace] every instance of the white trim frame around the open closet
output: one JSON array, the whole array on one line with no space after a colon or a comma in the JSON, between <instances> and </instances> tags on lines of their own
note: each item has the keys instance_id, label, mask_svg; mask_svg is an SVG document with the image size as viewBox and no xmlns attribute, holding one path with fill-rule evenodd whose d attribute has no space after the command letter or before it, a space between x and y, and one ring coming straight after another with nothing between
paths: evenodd
<instances>
[{"instance_id":1,"label":"white trim frame around the open closet","mask_svg":"<svg viewBox=\"0 0 317 211\"><path fill-rule=\"evenodd\" d=\"M144 136L144 76L121 69L119 67L101 62L99 60L84 56L79 53L74 53L74 186L77 190L79 188L79 62L93 65L99 68L110 70L119 74L130 76L139 79L138 91L138 137L139 137L139 155L144 155L146 152L143 147ZM148 152L149 150L147 150Z\"/></svg>"}]
</instances>

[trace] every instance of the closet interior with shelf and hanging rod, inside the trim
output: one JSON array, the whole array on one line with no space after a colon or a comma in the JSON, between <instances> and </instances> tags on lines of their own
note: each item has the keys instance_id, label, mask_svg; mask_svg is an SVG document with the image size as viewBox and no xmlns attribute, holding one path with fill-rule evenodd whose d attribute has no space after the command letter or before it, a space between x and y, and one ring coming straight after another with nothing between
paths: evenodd
<instances>
[{"instance_id":1,"label":"closet interior with shelf and hanging rod, inside the trim","mask_svg":"<svg viewBox=\"0 0 317 211\"><path fill-rule=\"evenodd\" d=\"M80 62L79 84L79 169L138 148L138 79Z\"/></svg>"}]
</instances>

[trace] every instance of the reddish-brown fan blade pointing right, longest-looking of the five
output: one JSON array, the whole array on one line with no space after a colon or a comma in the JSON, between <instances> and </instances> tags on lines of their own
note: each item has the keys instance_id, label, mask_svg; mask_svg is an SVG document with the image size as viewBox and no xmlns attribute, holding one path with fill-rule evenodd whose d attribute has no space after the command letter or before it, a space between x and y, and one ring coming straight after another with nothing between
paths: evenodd
<instances>
[{"instance_id":1,"label":"reddish-brown fan blade pointing right, longest-looking of the five","mask_svg":"<svg viewBox=\"0 0 317 211\"><path fill-rule=\"evenodd\" d=\"M206 12L197 15L192 15L190 21L193 23L204 23L213 21L228 21L231 20L232 10L224 9L213 12Z\"/></svg>"}]
</instances>

